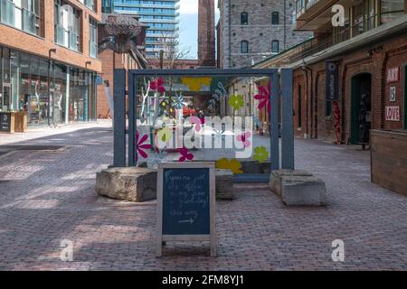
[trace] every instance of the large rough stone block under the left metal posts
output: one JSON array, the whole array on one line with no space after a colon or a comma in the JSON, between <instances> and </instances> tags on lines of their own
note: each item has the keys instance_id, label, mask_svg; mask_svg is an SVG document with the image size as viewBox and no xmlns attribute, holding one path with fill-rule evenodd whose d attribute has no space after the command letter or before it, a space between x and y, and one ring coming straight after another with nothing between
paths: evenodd
<instances>
[{"instance_id":1,"label":"large rough stone block under the left metal posts","mask_svg":"<svg viewBox=\"0 0 407 289\"><path fill-rule=\"evenodd\" d=\"M109 168L96 174L96 191L117 200L156 199L157 172L147 168Z\"/></svg>"}]
</instances>

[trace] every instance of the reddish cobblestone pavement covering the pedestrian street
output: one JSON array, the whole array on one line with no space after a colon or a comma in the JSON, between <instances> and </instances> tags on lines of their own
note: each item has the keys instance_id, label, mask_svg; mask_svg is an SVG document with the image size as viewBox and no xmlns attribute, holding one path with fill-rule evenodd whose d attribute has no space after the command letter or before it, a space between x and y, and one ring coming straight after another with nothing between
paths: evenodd
<instances>
[{"instance_id":1,"label":"reddish cobblestone pavement covering the pedestrian street","mask_svg":"<svg viewBox=\"0 0 407 289\"><path fill-rule=\"evenodd\" d=\"M2 270L407 269L407 199L370 182L367 152L296 140L298 168L327 182L326 208L286 208L266 185L239 184L236 200L216 205L217 258L208 244L168 244L156 258L156 202L94 191L95 172L112 160L111 128L61 133L18 144L68 145L62 150L0 155ZM337 238L343 263L331 259ZM73 242L73 262L61 261L63 239Z\"/></svg>"}]
</instances>

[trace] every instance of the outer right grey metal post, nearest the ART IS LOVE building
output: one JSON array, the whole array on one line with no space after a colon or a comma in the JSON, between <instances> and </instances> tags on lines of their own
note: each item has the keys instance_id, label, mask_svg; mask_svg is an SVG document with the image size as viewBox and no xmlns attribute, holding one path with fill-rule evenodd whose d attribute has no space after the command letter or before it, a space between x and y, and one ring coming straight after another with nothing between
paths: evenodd
<instances>
[{"instance_id":1,"label":"outer right grey metal post, nearest the ART IS LOVE building","mask_svg":"<svg viewBox=\"0 0 407 289\"><path fill-rule=\"evenodd\" d=\"M282 90L282 135L281 155L282 169L294 170L294 124L292 108L292 70L281 70Z\"/></svg>"}]
</instances>

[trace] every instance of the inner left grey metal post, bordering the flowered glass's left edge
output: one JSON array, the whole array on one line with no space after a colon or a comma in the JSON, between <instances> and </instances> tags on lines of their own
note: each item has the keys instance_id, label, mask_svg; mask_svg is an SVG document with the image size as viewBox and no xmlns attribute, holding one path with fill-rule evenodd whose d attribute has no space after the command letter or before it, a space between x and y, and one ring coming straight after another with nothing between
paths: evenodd
<instances>
[{"instance_id":1,"label":"inner left grey metal post, bordering the flowered glass's left edge","mask_svg":"<svg viewBox=\"0 0 407 289\"><path fill-rule=\"evenodd\" d=\"M137 95L136 76L128 72L128 166L135 166L136 163L136 95Z\"/></svg>"}]
</instances>

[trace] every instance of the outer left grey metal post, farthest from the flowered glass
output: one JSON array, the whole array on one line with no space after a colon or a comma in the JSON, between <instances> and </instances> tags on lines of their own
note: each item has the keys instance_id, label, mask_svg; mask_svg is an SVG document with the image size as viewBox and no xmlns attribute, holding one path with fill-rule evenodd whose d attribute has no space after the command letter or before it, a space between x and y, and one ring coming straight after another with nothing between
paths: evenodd
<instances>
[{"instance_id":1,"label":"outer left grey metal post, farthest from the flowered glass","mask_svg":"<svg viewBox=\"0 0 407 289\"><path fill-rule=\"evenodd\" d=\"M126 166L126 71L115 70L113 74L113 101L114 114L114 153L113 165L115 167Z\"/></svg>"}]
</instances>

